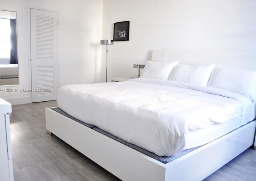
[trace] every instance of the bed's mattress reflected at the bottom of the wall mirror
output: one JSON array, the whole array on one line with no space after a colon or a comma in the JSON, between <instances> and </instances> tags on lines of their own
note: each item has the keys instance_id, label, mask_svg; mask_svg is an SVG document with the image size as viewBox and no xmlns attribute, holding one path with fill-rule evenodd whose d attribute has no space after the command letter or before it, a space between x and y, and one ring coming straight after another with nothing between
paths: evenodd
<instances>
[{"instance_id":1,"label":"bed's mattress reflected at the bottom of the wall mirror","mask_svg":"<svg viewBox=\"0 0 256 181\"><path fill-rule=\"evenodd\" d=\"M17 78L18 64L0 64L0 78Z\"/></svg>"}]
</instances>

